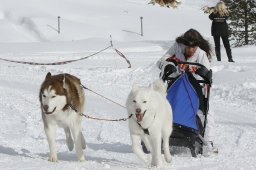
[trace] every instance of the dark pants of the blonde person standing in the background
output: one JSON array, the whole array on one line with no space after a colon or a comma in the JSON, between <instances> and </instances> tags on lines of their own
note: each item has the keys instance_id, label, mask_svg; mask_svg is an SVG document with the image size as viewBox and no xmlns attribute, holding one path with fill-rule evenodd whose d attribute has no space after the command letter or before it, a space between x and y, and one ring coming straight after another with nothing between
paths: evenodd
<instances>
[{"instance_id":1,"label":"dark pants of the blonde person standing in the background","mask_svg":"<svg viewBox=\"0 0 256 170\"><path fill-rule=\"evenodd\" d=\"M227 53L228 59L232 60L232 53L231 53L231 48L230 48L228 36L220 36L220 35L213 36L214 43L215 43L215 53L216 53L217 60L218 61L221 60L220 38L222 39L223 45L224 45L224 47L226 49L226 53Z\"/></svg>"}]
</instances>

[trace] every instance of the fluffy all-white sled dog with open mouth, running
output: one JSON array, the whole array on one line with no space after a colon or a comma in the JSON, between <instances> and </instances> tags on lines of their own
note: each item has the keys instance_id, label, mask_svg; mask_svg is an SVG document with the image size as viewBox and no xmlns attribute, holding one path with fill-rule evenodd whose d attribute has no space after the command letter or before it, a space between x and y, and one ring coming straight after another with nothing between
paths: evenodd
<instances>
[{"instance_id":1,"label":"fluffy all-white sled dog with open mouth, running","mask_svg":"<svg viewBox=\"0 0 256 170\"><path fill-rule=\"evenodd\" d=\"M133 86L127 102L129 129L133 152L147 163L141 140L152 153L151 166L162 167L161 143L164 157L170 163L169 137L172 133L172 109L166 99L166 86L157 80L150 87Z\"/></svg>"}]
</instances>

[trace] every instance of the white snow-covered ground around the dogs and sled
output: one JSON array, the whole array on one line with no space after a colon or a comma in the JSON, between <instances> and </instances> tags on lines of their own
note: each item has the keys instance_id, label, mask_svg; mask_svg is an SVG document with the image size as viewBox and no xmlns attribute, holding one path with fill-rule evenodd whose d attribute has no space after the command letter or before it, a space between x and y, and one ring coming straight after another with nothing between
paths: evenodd
<instances>
[{"instance_id":1,"label":"white snow-covered ground around the dogs and sled","mask_svg":"<svg viewBox=\"0 0 256 170\"><path fill-rule=\"evenodd\" d=\"M0 58L28 62L79 59L110 45L130 60L128 65L109 48L66 65L26 65L0 60L0 169L148 169L131 150L127 122L83 119L87 161L69 152L62 129L57 131L58 163L48 162L39 87L47 72L70 73L82 84L121 105L133 83L149 84L158 77L156 61L175 37L195 28L208 38L211 22L200 8L217 0L183 0L177 9L148 5L147 0L0 0ZM57 16L61 17L58 34ZM140 17L143 33L140 36ZM192 158L173 155L165 169L256 169L256 48L232 49L236 63L213 57L210 107L215 112L218 155ZM86 93L85 113L118 119L126 110Z\"/></svg>"}]
</instances>

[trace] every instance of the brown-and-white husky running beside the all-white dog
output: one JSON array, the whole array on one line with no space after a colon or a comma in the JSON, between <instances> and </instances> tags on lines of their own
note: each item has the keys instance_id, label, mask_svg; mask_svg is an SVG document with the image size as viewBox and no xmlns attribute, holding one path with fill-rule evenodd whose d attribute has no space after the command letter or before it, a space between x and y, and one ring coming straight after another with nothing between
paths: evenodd
<instances>
[{"instance_id":1,"label":"brown-and-white husky running beside the all-white dog","mask_svg":"<svg viewBox=\"0 0 256 170\"><path fill-rule=\"evenodd\" d=\"M78 160L84 161L83 149L86 143L81 131L81 116L78 113L83 112L85 99L80 80L70 74L52 76L48 73L41 85L39 100L44 131L50 148L49 161L58 161L55 142L57 125L64 128L69 150L73 150L75 142ZM69 105L72 105L78 113Z\"/></svg>"}]
</instances>

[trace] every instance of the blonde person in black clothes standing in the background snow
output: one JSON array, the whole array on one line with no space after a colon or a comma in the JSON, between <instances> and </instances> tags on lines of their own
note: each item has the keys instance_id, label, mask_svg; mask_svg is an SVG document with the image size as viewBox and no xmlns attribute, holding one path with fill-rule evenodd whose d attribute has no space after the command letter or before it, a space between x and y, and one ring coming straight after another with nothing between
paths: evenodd
<instances>
[{"instance_id":1,"label":"blonde person in black clothes standing in the background snow","mask_svg":"<svg viewBox=\"0 0 256 170\"><path fill-rule=\"evenodd\" d=\"M221 61L220 38L226 49L229 62L234 62L228 40L228 24L226 22L229 12L223 1L216 4L214 11L209 15L212 20L211 34L214 39L217 61Z\"/></svg>"}]
</instances>

